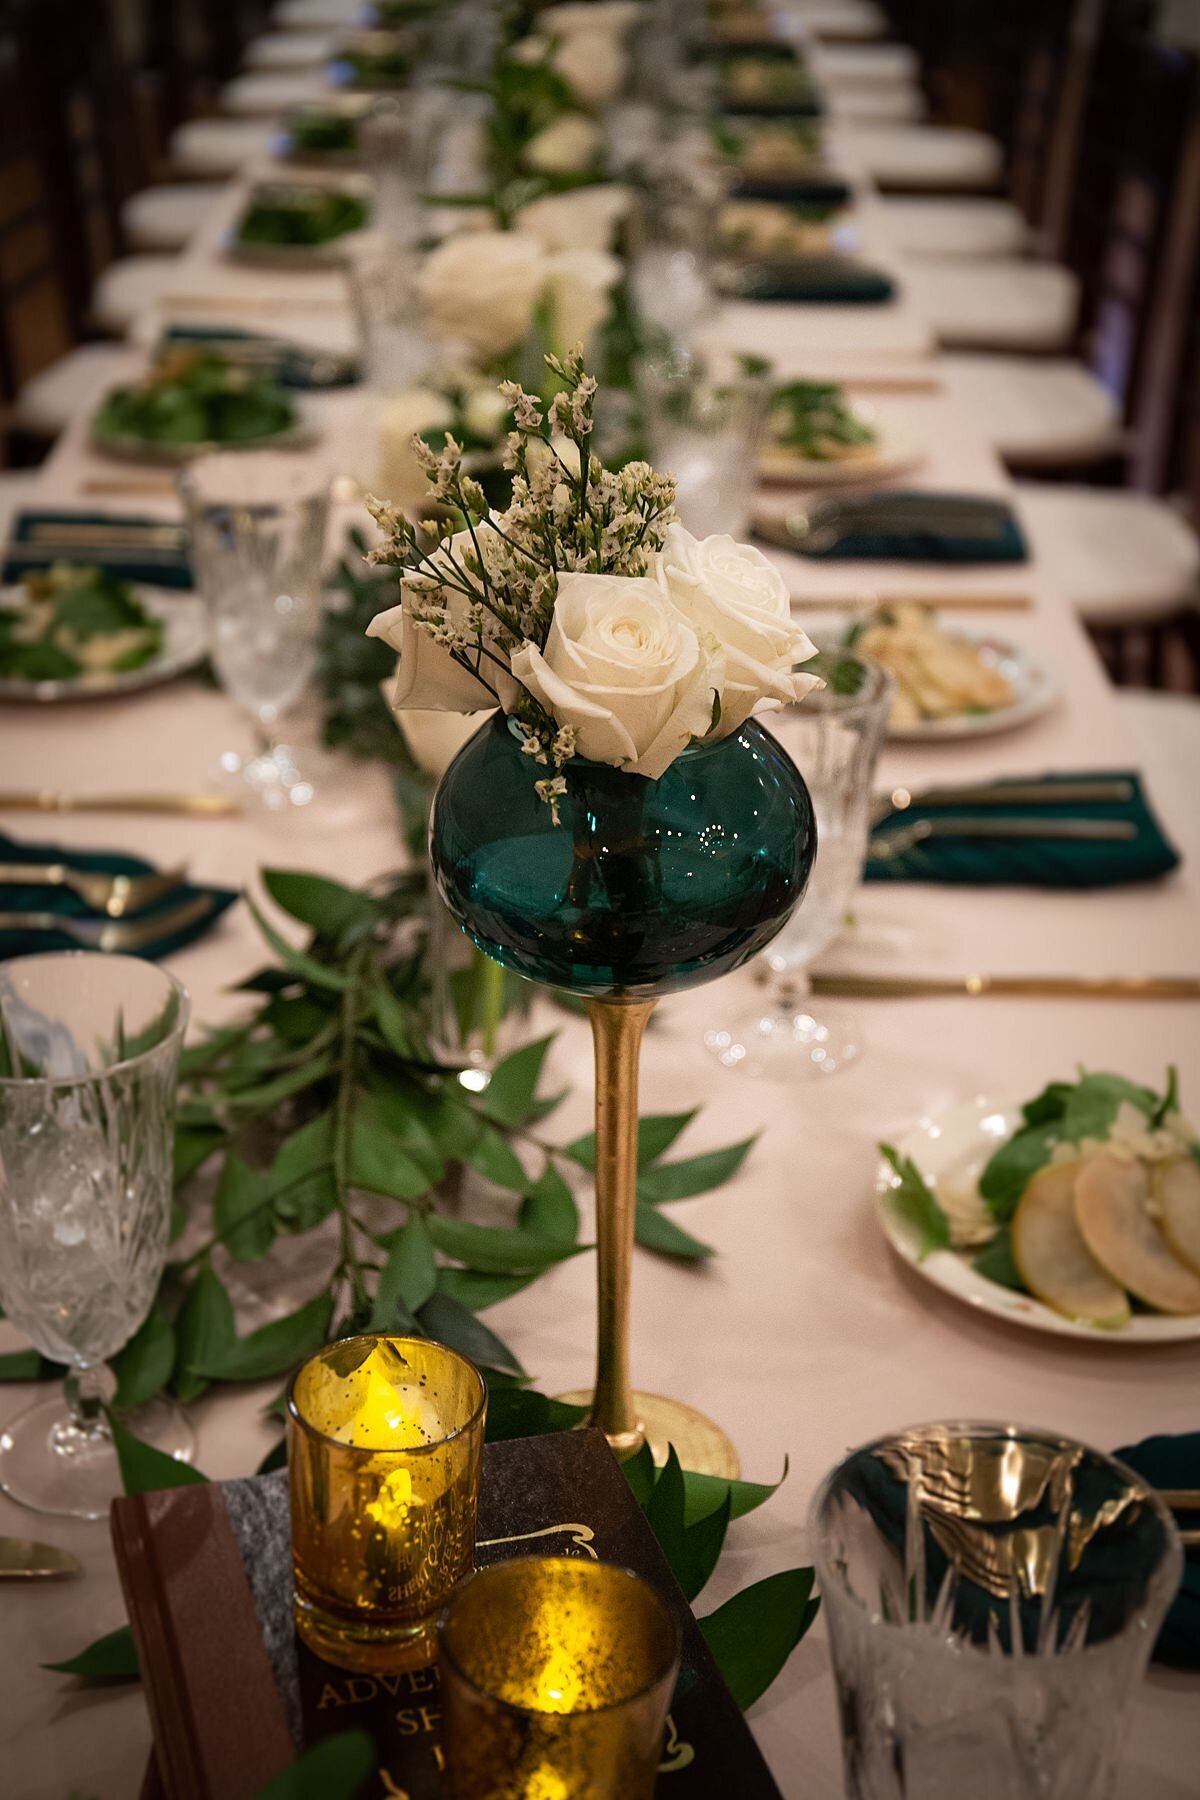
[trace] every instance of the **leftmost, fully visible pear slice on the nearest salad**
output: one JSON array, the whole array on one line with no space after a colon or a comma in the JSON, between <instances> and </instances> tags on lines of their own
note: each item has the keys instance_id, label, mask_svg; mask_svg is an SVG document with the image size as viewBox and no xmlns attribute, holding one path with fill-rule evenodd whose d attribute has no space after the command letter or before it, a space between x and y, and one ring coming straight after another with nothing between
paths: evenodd
<instances>
[{"instance_id":1,"label":"leftmost, fully visible pear slice on the nearest salad","mask_svg":"<svg viewBox=\"0 0 1200 1800\"><path fill-rule=\"evenodd\" d=\"M1119 1330L1130 1323L1123 1287L1105 1274L1076 1220L1079 1163L1040 1168L1013 1217L1013 1260L1031 1294L1085 1325Z\"/></svg>"}]
</instances>

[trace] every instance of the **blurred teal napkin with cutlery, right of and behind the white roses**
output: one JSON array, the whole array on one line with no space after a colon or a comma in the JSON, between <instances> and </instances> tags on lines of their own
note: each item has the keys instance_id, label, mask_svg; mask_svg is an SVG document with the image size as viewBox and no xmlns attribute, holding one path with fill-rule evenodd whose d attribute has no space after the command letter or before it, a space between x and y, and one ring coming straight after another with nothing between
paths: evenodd
<instances>
[{"instance_id":1,"label":"blurred teal napkin with cutlery, right of and behind the white roses","mask_svg":"<svg viewBox=\"0 0 1200 1800\"><path fill-rule=\"evenodd\" d=\"M822 500L810 509L811 540L792 547L802 556L882 562L1013 563L1029 562L1016 515L991 495L898 493ZM829 524L828 538L817 529Z\"/></svg>"}]
</instances>

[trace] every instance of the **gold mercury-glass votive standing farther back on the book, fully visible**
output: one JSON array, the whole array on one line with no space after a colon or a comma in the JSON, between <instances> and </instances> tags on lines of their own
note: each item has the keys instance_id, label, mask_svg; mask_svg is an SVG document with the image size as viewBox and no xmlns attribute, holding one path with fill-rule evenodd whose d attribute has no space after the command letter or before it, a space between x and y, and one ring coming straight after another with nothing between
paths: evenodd
<instances>
[{"instance_id":1,"label":"gold mercury-glass votive standing farther back on the book, fully visible","mask_svg":"<svg viewBox=\"0 0 1200 1800\"><path fill-rule=\"evenodd\" d=\"M419 1669L475 1561L488 1390L425 1337L344 1337L288 1391L295 1625L340 1669Z\"/></svg>"}]
</instances>

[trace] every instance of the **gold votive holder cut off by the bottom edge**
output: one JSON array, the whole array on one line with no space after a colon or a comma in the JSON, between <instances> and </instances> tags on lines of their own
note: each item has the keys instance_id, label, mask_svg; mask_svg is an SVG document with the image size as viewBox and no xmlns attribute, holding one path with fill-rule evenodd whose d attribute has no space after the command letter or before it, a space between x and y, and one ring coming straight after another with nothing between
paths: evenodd
<instances>
[{"instance_id":1,"label":"gold votive holder cut off by the bottom edge","mask_svg":"<svg viewBox=\"0 0 1200 1800\"><path fill-rule=\"evenodd\" d=\"M513 1557L457 1589L437 1634L453 1800L649 1800L680 1633L644 1580Z\"/></svg>"}]
</instances>

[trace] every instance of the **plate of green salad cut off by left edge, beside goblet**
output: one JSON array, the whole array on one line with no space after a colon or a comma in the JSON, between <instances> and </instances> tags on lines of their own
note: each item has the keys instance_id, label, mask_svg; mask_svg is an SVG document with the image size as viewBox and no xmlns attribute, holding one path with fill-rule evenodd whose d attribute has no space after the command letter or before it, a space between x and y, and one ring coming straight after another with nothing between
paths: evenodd
<instances>
[{"instance_id":1,"label":"plate of green salad cut off by left edge, beside goblet","mask_svg":"<svg viewBox=\"0 0 1200 1800\"><path fill-rule=\"evenodd\" d=\"M31 610L31 594L45 594L36 648L41 668L13 652L13 623ZM54 596L54 598L50 598ZM65 608L65 610L63 610ZM68 635L61 635L61 623ZM63 646L70 646L65 653ZM0 700L94 700L139 693L198 668L209 653L209 623L194 594L117 581L95 569L29 576L0 589ZM18 673L25 661L31 673ZM70 664L76 664L74 671ZM49 673L56 670L56 673Z\"/></svg>"}]
</instances>

